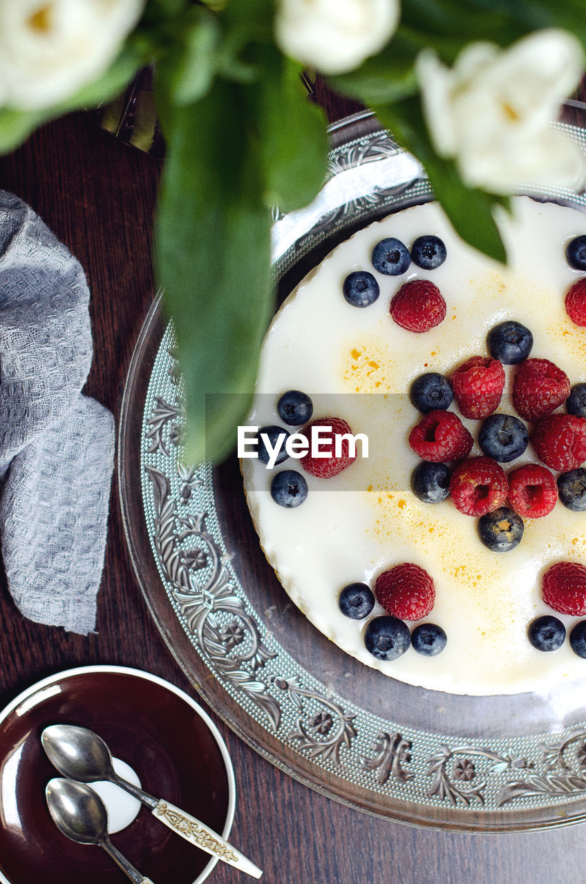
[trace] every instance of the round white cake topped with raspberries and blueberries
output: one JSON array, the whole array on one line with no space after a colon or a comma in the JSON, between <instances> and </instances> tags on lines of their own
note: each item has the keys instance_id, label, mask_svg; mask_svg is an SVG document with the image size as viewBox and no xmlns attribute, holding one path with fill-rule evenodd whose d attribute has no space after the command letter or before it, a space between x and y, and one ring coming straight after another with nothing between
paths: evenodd
<instances>
[{"instance_id":1,"label":"round white cake topped with raspberries and blueberries","mask_svg":"<svg viewBox=\"0 0 586 884\"><path fill-rule=\"evenodd\" d=\"M435 203L335 248L274 317L248 423L278 428L270 445L315 422L364 434L368 456L242 461L312 624L384 674L475 695L586 677L586 215L519 197L498 223L506 267Z\"/></svg>"}]
</instances>

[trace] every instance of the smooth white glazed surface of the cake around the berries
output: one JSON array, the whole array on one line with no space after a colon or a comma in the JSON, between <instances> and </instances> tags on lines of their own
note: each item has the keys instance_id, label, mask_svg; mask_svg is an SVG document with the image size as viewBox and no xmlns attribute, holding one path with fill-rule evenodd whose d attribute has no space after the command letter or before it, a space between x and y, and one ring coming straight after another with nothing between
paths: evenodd
<instances>
[{"instance_id":1,"label":"smooth white glazed surface of the cake around the berries","mask_svg":"<svg viewBox=\"0 0 586 884\"><path fill-rule=\"evenodd\" d=\"M586 329L567 316L568 287L583 276L568 266L569 240L586 233L586 215L528 198L514 201L514 219L499 218L509 263L490 261L459 240L434 203L398 212L366 227L334 249L289 298L267 332L253 411L248 423L281 424L282 392L300 390L314 402L313 418L336 415L353 433L369 438L369 456L337 476L318 479L289 459L266 469L243 460L244 485L266 557L290 598L343 651L403 682L452 693L489 695L551 690L586 677L586 659L568 641L552 653L528 642L528 624L554 613L541 596L541 575L560 560L586 563L586 514L558 501L551 514L527 520L520 545L492 552L482 545L477 520L445 499L423 503L410 487L419 462L408 443L421 419L409 400L415 377L451 372L470 356L487 355L487 333L505 319L533 333L531 356L548 359L571 383L586 380ZM439 236L447 258L436 270L414 263L401 276L374 270L374 246L397 237L407 247L425 234ZM357 309L343 298L352 271L374 274L381 294ZM446 302L446 316L424 333L406 331L389 315L389 302L411 279L429 279ZM505 395L497 412L514 414L507 392L513 366L505 366ZM360 395L362 394L362 395ZM369 395L366 395L369 394ZM452 406L452 409L454 407ZM559 409L560 410L560 409ZM477 445L478 422L466 421ZM290 428L288 428L290 431ZM531 446L505 472L536 461ZM308 496L296 508L280 507L269 486L275 472L297 469ZM447 635L443 652L426 657L409 648L381 661L366 650L366 623L384 614L376 604L363 621L338 607L352 582L374 589L377 575L413 562L433 577L435 605L425 621ZM569 631L580 618L556 614ZM413 626L414 624L409 624Z\"/></svg>"}]
</instances>

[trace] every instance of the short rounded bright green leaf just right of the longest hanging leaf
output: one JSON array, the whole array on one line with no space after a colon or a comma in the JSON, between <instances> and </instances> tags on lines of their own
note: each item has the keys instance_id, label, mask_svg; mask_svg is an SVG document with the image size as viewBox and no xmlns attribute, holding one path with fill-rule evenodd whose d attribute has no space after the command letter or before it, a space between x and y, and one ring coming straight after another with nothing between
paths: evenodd
<instances>
[{"instance_id":1,"label":"short rounded bright green leaf just right of the longest hanging leaf","mask_svg":"<svg viewBox=\"0 0 586 884\"><path fill-rule=\"evenodd\" d=\"M262 70L262 80L247 95L251 118L258 119L265 202L276 202L284 211L301 209L312 202L326 176L326 120L308 99L295 62L266 50Z\"/></svg>"}]
</instances>

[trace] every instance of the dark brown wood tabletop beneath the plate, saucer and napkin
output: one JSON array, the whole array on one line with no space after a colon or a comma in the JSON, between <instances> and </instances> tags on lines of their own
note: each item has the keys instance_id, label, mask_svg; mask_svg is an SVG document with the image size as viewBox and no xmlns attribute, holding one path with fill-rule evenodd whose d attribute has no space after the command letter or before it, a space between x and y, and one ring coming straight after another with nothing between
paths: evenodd
<instances>
[{"instance_id":1,"label":"dark brown wood tabletop beneath the plate, saucer and napkin","mask_svg":"<svg viewBox=\"0 0 586 884\"><path fill-rule=\"evenodd\" d=\"M335 110L330 106L331 116ZM45 126L0 159L0 187L29 202L88 275L95 356L86 392L117 420L130 356L154 295L150 231L159 173L157 160L115 141L83 114ZM0 583L0 706L45 675L96 663L145 669L195 694L136 583L115 479L96 634L75 636L24 620L4 577ZM583 880L582 826L544 834L463 835L369 817L290 779L213 712L212 718L235 766L232 841L265 869L266 884ZM220 863L209 880L229 884L244 877Z\"/></svg>"}]
</instances>

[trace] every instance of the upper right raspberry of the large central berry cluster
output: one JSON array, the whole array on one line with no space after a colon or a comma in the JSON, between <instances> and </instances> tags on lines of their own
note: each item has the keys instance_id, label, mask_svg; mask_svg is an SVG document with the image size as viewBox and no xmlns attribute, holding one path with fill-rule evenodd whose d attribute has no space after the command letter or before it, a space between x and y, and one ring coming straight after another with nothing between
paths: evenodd
<instances>
[{"instance_id":1,"label":"upper right raspberry of the large central berry cluster","mask_svg":"<svg viewBox=\"0 0 586 884\"><path fill-rule=\"evenodd\" d=\"M513 380L513 405L526 421L551 415L569 394L566 372L547 359L522 362Z\"/></svg>"}]
</instances>

